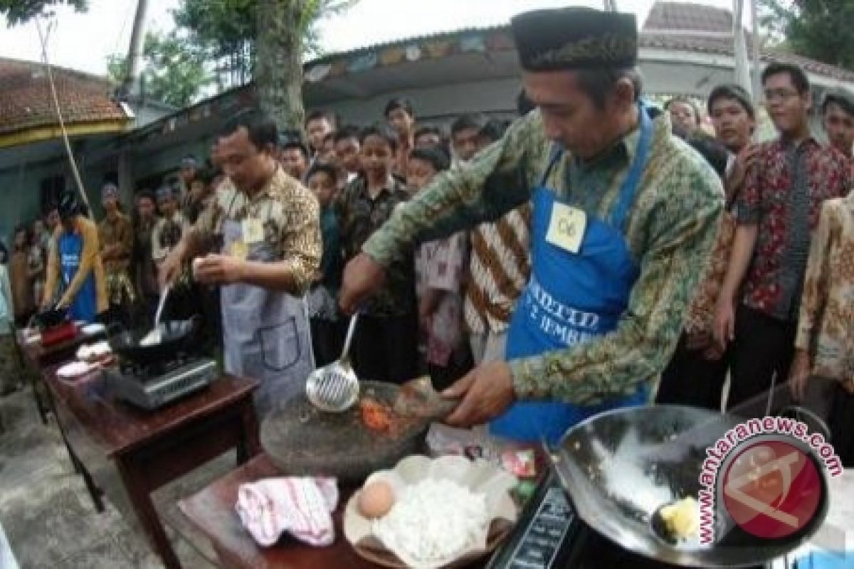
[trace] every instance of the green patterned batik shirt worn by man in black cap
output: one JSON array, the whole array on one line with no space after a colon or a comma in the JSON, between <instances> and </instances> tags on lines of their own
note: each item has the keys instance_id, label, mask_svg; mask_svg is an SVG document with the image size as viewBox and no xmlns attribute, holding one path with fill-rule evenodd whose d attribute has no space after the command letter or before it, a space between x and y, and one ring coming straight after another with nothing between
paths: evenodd
<instances>
[{"instance_id":1,"label":"green patterned batik shirt worn by man in black cap","mask_svg":"<svg viewBox=\"0 0 854 569\"><path fill-rule=\"evenodd\" d=\"M600 160L585 165L584 183L568 183L567 168L578 162L564 155L547 183L571 206L606 218L628 175L640 133L617 142ZM551 144L539 111L514 122L505 136L470 163L439 174L407 206L396 211L364 247L383 265L401 258L412 241L497 219L530 199L547 166ZM483 192L494 171L522 166L526 184ZM640 267L629 305L610 334L539 356L510 362L518 398L553 398L597 404L634 394L670 360L694 289L702 276L723 208L715 171L684 142L670 134L670 119L653 121L652 147L629 212L624 235Z\"/></svg>"}]
</instances>

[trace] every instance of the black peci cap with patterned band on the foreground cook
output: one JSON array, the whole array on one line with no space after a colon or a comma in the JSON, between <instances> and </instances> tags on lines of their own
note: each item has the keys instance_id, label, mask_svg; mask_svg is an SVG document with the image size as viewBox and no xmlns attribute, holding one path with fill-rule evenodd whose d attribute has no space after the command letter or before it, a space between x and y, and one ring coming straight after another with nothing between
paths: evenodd
<instances>
[{"instance_id":1,"label":"black peci cap with patterned band on the foreground cook","mask_svg":"<svg viewBox=\"0 0 854 569\"><path fill-rule=\"evenodd\" d=\"M511 20L519 62L527 71L634 67L635 15L590 8L544 9Z\"/></svg>"}]
</instances>

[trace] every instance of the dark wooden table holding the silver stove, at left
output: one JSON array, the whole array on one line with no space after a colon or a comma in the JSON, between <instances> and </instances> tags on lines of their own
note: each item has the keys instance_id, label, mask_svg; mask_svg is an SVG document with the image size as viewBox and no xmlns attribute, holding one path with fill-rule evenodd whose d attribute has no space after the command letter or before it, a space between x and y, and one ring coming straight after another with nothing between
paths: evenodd
<instances>
[{"instance_id":1,"label":"dark wooden table holding the silver stove, at left","mask_svg":"<svg viewBox=\"0 0 854 569\"><path fill-rule=\"evenodd\" d=\"M260 452L253 402L258 382L225 375L150 412L116 401L100 372L68 382L53 367L44 370L44 380L85 478L116 505L132 508L163 563L180 567L150 494L232 448L238 465Z\"/></svg>"}]
</instances>

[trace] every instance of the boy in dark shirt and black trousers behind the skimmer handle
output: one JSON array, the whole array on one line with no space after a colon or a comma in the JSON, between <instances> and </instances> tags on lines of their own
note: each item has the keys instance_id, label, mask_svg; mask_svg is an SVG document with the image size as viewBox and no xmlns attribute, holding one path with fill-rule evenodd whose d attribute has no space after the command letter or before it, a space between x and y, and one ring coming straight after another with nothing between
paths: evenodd
<instances>
[{"instance_id":1,"label":"boy in dark shirt and black trousers behind the skimmer handle","mask_svg":"<svg viewBox=\"0 0 854 569\"><path fill-rule=\"evenodd\" d=\"M339 200L345 259L354 258L368 237L408 199L407 189L392 175L397 136L387 126L362 131L364 174L350 183ZM418 370L418 316L412 257L391 266L383 289L360 311L354 338L354 364L360 377L401 383Z\"/></svg>"}]
</instances>

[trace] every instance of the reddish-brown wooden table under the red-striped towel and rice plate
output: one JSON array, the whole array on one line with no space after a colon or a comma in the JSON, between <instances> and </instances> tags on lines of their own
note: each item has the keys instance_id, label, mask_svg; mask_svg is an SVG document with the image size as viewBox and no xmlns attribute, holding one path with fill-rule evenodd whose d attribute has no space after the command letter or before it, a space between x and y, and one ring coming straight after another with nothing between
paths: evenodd
<instances>
[{"instance_id":1,"label":"reddish-brown wooden table under the red-striped towel and rice plate","mask_svg":"<svg viewBox=\"0 0 854 569\"><path fill-rule=\"evenodd\" d=\"M269 548L261 548L249 531L243 528L234 509L237 489L242 484L259 479L281 476L266 454L251 461L224 478L213 482L194 496L178 502L178 508L188 520L208 537L219 557L219 564L234 569L376 569L377 565L362 559L344 537L342 517L344 508L356 488L339 488L340 498L332 521L335 523L335 542L329 547L316 548L284 536ZM476 561L469 569L485 566L488 558Z\"/></svg>"}]
</instances>

